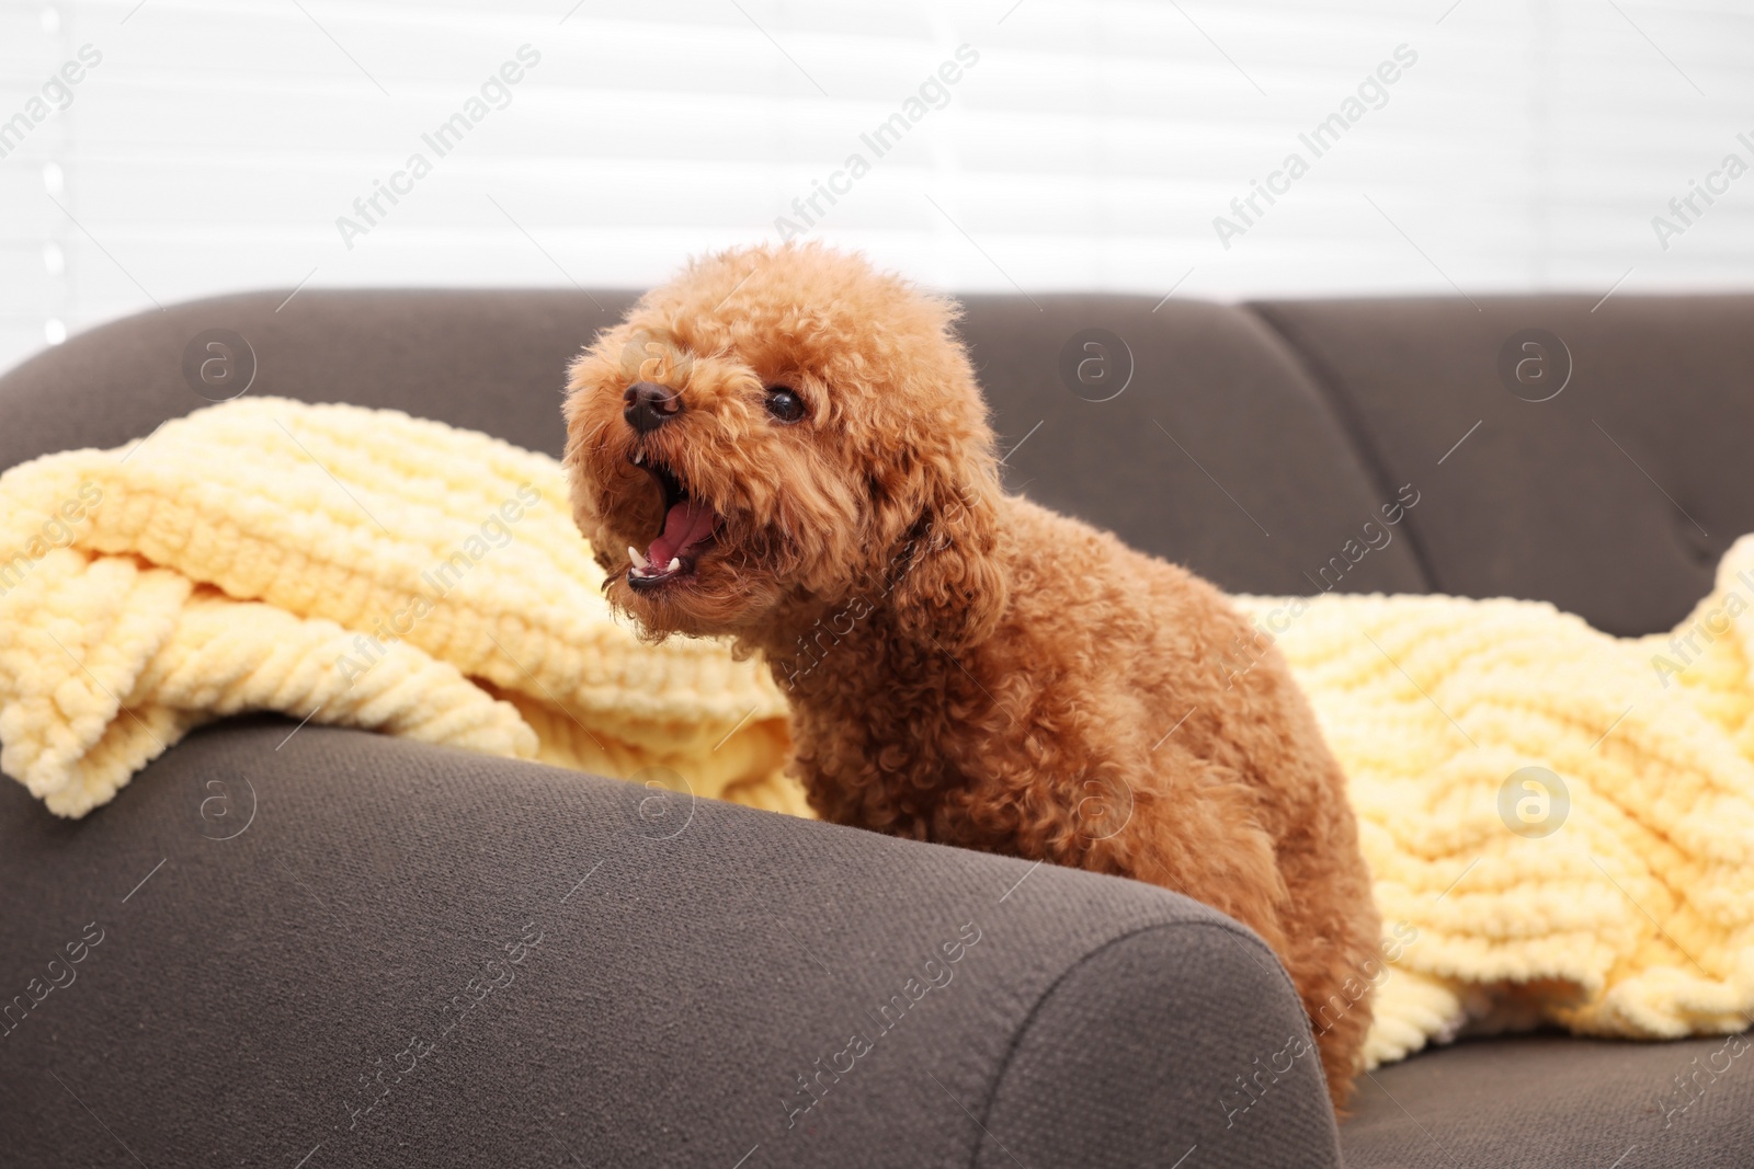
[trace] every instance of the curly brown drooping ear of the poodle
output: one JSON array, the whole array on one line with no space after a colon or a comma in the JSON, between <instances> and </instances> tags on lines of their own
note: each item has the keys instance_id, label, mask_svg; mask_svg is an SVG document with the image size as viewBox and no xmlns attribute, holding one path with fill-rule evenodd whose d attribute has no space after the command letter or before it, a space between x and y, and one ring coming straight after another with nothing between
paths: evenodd
<instances>
[{"instance_id":1,"label":"curly brown drooping ear of the poodle","mask_svg":"<svg viewBox=\"0 0 1754 1169\"><path fill-rule=\"evenodd\" d=\"M891 577L889 603L903 634L952 654L991 636L1009 598L998 510L991 452L926 470L924 507Z\"/></svg>"}]
</instances>

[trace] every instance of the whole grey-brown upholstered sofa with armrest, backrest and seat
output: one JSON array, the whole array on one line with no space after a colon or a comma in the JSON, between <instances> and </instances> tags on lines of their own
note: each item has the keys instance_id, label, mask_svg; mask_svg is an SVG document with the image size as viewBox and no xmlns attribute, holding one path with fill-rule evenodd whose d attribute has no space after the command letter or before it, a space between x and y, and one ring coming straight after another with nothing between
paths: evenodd
<instances>
[{"instance_id":1,"label":"whole grey-brown upholstered sofa with armrest, backrest and seat","mask_svg":"<svg viewBox=\"0 0 1754 1169\"><path fill-rule=\"evenodd\" d=\"M630 298L284 300L172 307L12 370L0 468L205 405L184 352L216 328L249 342L253 394L558 454L561 370ZM975 296L965 335L1012 489L1228 589L1544 598L1647 633L1754 529L1754 298L1591 305ZM1563 351L1522 349L1526 329ZM1405 484L1396 538L1344 556ZM1722 1039L1466 1039L1361 1078L1337 1127L1308 1060L1263 1073L1307 1024L1272 953L1214 911L645 799L268 715L196 733L81 822L0 783L0 1006L82 953L0 1022L0 1162L1754 1157L1754 1073L1722 1069Z\"/></svg>"}]
</instances>

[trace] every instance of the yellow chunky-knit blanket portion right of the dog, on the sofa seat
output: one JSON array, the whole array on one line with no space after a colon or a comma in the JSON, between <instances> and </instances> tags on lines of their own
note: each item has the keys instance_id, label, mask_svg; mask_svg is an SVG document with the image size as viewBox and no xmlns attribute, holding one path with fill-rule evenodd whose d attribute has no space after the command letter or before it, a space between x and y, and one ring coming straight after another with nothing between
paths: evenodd
<instances>
[{"instance_id":1,"label":"yellow chunky-knit blanket portion right of the dog, on the sofa seat","mask_svg":"<svg viewBox=\"0 0 1754 1169\"><path fill-rule=\"evenodd\" d=\"M1386 932L1412 938L1370 1064L1461 1031L1749 1025L1754 536L1651 638L1533 601L1238 601L1280 631L1347 771Z\"/></svg>"}]
</instances>

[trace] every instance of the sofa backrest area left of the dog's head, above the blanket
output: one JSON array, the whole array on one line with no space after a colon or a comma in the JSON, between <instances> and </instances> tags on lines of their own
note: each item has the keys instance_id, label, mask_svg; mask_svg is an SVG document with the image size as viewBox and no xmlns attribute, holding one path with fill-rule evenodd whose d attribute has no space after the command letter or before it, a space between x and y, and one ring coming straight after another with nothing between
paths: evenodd
<instances>
[{"instance_id":1,"label":"sofa backrest area left of the dog's head, above the blanket","mask_svg":"<svg viewBox=\"0 0 1754 1169\"><path fill-rule=\"evenodd\" d=\"M123 317L7 372L0 470L119 447L212 405L221 394L202 396L184 373L210 329L249 344L251 394L405 410L560 457L567 363L633 303L631 293L289 291Z\"/></svg>"}]
</instances>

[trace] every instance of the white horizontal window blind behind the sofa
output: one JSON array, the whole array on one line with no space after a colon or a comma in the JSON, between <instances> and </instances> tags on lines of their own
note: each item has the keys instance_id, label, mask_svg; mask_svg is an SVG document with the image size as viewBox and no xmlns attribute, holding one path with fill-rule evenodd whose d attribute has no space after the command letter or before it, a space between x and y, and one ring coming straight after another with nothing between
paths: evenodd
<instances>
[{"instance_id":1,"label":"white horizontal window blind behind the sofa","mask_svg":"<svg viewBox=\"0 0 1754 1169\"><path fill-rule=\"evenodd\" d=\"M1749 287L1750 56L1735 0L7 0L0 366L793 231L952 289Z\"/></svg>"}]
</instances>

